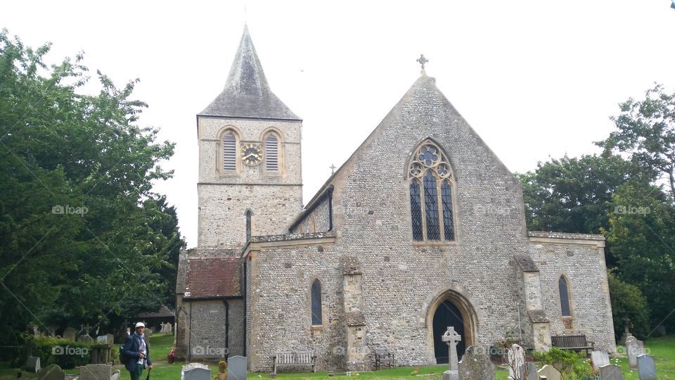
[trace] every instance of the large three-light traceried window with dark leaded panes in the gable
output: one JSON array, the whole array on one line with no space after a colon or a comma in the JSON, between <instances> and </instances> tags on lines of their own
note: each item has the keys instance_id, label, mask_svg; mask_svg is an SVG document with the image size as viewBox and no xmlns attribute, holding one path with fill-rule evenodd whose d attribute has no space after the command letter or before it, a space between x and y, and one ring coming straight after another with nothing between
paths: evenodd
<instances>
[{"instance_id":1,"label":"large three-light traceried window with dark leaded panes in the gable","mask_svg":"<svg viewBox=\"0 0 675 380\"><path fill-rule=\"evenodd\" d=\"M408 168L414 241L454 241L454 177L448 158L433 141L415 151Z\"/></svg>"}]
</instances>

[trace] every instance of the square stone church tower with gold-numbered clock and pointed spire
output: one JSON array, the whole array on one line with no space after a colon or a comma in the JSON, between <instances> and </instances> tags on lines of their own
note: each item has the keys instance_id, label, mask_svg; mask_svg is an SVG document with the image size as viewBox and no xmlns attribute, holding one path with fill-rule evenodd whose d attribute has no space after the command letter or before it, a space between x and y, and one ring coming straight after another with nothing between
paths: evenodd
<instances>
[{"instance_id":1,"label":"square stone church tower with gold-numbered clock and pointed spire","mask_svg":"<svg viewBox=\"0 0 675 380\"><path fill-rule=\"evenodd\" d=\"M197 115L198 246L242 248L302 210L302 120L272 93L248 32L225 88Z\"/></svg>"}]
</instances>

